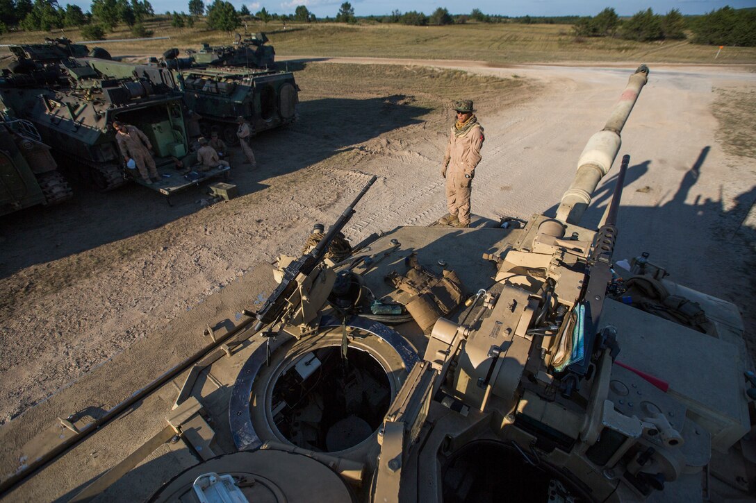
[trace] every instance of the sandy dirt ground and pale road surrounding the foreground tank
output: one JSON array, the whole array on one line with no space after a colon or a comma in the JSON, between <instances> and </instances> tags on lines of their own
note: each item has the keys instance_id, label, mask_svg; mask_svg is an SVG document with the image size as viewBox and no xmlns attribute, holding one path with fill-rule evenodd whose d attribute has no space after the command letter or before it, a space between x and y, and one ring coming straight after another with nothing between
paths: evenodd
<instances>
[{"instance_id":1,"label":"sandy dirt ground and pale road surrounding the foreground tank","mask_svg":"<svg viewBox=\"0 0 756 503\"><path fill-rule=\"evenodd\" d=\"M234 168L242 197L207 205L202 191L192 190L170 207L141 187L107 194L75 187L68 205L3 218L0 422L223 295L256 264L299 253L312 224L335 221L371 174L379 181L345 230L352 242L445 213L440 165L453 120L448 106L433 108L421 91L395 88L391 79L366 85L354 70L348 84L331 88L327 76L342 79L348 67L334 63L378 62L318 60L308 63L320 68L315 77L297 77L300 121L255 140L256 171ZM417 64L381 63L411 71ZM488 218L553 213L584 143L603 128L634 69L432 65L522 79L477 106L486 140L472 211ZM621 154L632 159L615 252L615 259L649 252L672 279L738 304L751 353L756 170L753 158L723 150L711 106L715 90L754 83L756 73L738 68L652 67L622 134ZM465 94L463 85L458 92ZM234 153L232 166L241 159ZM596 224L612 186L610 173L596 193L599 208L584 223Z\"/></svg>"}]
</instances>

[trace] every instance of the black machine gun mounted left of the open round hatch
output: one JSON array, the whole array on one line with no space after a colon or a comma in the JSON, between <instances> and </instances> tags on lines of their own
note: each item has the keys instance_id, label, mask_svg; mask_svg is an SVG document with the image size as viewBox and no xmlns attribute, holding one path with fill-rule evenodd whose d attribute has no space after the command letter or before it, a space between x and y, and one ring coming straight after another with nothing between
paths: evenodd
<instances>
[{"instance_id":1,"label":"black machine gun mounted left of the open round hatch","mask_svg":"<svg viewBox=\"0 0 756 503\"><path fill-rule=\"evenodd\" d=\"M281 279L280 285L278 285L273 293L271 293L271 296L265 301L262 309L256 314L258 322L255 325L255 331L262 329L265 325L275 322L279 318L280 314L283 313L284 308L287 306L287 299L290 298L297 289L297 276L299 276L299 274L307 276L318 264L321 263L328 251L330 243L333 241L333 238L343 230L347 222L349 222L349 219L355 214L355 205L360 202L362 196L367 193L367 190L370 190L370 187L373 186L377 179L378 177L375 175L370 178L370 181L368 181L365 187L362 188L357 197L355 197L355 200L352 201L352 204L343 211L339 220L336 221L336 224L333 224L333 226L330 227L328 233L320 242L318 242L318 245L316 245L311 252L303 255L296 261L293 261L289 264L286 270L283 271L283 279Z\"/></svg>"}]
</instances>

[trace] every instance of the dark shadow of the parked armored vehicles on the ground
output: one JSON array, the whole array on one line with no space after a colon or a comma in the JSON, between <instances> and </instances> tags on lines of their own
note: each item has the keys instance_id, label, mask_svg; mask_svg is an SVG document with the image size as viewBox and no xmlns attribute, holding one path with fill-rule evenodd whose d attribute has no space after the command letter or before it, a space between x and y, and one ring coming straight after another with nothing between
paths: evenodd
<instances>
[{"instance_id":1,"label":"dark shadow of the parked armored vehicles on the ground","mask_svg":"<svg viewBox=\"0 0 756 503\"><path fill-rule=\"evenodd\" d=\"M299 104L299 121L290 128L266 131L253 139L256 170L243 165L238 147L232 149L231 183L242 196L254 193L268 187L265 181L271 177L296 172L386 131L422 122L420 117L429 110L400 104L401 99L304 101ZM200 210L208 199L207 184L172 196L172 206L164 196L135 184L109 193L97 193L76 181L72 185L74 199L64 205L28 208L2 219L0 278L161 227Z\"/></svg>"}]
</instances>

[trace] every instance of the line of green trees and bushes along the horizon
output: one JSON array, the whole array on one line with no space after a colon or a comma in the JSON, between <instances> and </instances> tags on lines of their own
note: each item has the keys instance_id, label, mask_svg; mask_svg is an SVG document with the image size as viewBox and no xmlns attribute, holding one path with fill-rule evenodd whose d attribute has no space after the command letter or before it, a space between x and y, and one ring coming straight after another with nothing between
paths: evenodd
<instances>
[{"instance_id":1,"label":"line of green trees and bushes along the horizon","mask_svg":"<svg viewBox=\"0 0 756 503\"><path fill-rule=\"evenodd\" d=\"M209 6L203 0L189 0L189 14L166 12L171 26L192 27L197 19L205 17L209 29L231 32L241 26L244 17L254 16L268 23L271 20L314 23L318 21L305 5L296 7L294 14L275 14L261 8L252 14L246 5L237 10L231 2L215 0ZM113 31L119 23L125 23L135 36L150 36L144 28L147 17L154 17L149 0L93 0L90 12L83 12L76 5L64 8L52 5L48 0L0 0L0 33L8 27L44 30L82 26L82 36L87 39L103 39L106 31ZM658 40L690 39L697 44L756 46L756 9L733 9L728 7L711 11L702 16L683 16L677 9L667 14L655 14L651 8L639 11L632 17L621 19L613 8L606 8L596 16L559 17L508 17L484 14L472 9L469 14L450 14L446 8L436 8L429 16L419 11L393 11L384 16L357 17L349 2L344 2L335 17L323 21L356 23L370 20L378 23L400 23L410 26L443 26L475 23L523 23L523 24L572 24L578 37L618 37L621 39L652 42Z\"/></svg>"}]
</instances>

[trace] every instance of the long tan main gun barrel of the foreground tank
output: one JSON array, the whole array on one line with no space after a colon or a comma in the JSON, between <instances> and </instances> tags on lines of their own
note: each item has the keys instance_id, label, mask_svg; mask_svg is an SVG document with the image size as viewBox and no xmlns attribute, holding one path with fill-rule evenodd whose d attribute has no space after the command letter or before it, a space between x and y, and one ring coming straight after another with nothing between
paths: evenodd
<instances>
[{"instance_id":1,"label":"long tan main gun barrel of the foreground tank","mask_svg":"<svg viewBox=\"0 0 756 503\"><path fill-rule=\"evenodd\" d=\"M580 222L585 209L590 205L593 191L596 190L601 178L609 172L609 168L612 168L612 163L622 144L620 133L624 123L630 116L640 90L646 85L648 79L648 66L638 66L627 82L627 87L624 88L603 130L593 134L588 140L578 159L578 172L575 174L575 179L562 196L562 202L556 210L557 220L568 224Z\"/></svg>"}]
</instances>

